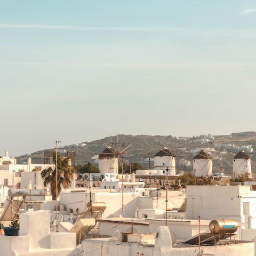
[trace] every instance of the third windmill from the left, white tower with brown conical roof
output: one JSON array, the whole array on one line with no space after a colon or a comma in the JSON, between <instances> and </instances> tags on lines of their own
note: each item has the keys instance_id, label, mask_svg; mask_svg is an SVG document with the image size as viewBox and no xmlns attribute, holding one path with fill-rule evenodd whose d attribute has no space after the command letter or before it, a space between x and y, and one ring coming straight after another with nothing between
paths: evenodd
<instances>
[{"instance_id":1,"label":"third windmill from the left, white tower with brown conical roof","mask_svg":"<svg viewBox=\"0 0 256 256\"><path fill-rule=\"evenodd\" d=\"M201 150L193 158L193 171L195 177L209 177L212 175L212 157Z\"/></svg>"}]
</instances>

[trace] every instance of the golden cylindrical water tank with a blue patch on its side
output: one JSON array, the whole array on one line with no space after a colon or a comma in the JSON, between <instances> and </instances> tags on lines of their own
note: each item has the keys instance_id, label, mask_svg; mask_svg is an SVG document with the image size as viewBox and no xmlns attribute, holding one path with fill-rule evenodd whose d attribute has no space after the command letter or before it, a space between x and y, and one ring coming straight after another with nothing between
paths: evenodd
<instances>
[{"instance_id":1,"label":"golden cylindrical water tank with a blue patch on its side","mask_svg":"<svg viewBox=\"0 0 256 256\"><path fill-rule=\"evenodd\" d=\"M230 234L237 230L237 222L234 220L212 220L209 230L213 234Z\"/></svg>"}]
</instances>

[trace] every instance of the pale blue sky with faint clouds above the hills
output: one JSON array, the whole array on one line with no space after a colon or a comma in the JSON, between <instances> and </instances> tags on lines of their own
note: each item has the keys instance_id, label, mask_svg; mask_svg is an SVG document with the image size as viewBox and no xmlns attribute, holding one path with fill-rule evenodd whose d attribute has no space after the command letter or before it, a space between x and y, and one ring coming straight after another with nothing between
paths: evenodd
<instances>
[{"instance_id":1,"label":"pale blue sky with faint clouds above the hills","mask_svg":"<svg viewBox=\"0 0 256 256\"><path fill-rule=\"evenodd\" d=\"M255 130L255 1L0 6L0 155L117 132Z\"/></svg>"}]
</instances>

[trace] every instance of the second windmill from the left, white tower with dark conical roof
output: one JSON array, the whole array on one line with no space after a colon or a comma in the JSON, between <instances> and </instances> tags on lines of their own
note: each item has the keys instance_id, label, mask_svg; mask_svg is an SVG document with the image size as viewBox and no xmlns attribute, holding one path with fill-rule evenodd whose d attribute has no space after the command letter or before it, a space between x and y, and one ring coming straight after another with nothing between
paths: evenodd
<instances>
[{"instance_id":1,"label":"second windmill from the left, white tower with dark conical roof","mask_svg":"<svg viewBox=\"0 0 256 256\"><path fill-rule=\"evenodd\" d=\"M169 169L169 175L175 175L175 156L174 154L166 147L158 151L154 156L154 168L156 170L166 170Z\"/></svg>"}]
</instances>

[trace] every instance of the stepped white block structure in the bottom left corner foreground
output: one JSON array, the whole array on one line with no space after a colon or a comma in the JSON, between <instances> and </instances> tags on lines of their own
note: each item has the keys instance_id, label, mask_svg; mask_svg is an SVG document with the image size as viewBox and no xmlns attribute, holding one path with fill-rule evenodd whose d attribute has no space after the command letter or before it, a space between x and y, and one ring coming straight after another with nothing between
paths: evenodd
<instances>
[{"instance_id":1,"label":"stepped white block structure in the bottom left corner foreground","mask_svg":"<svg viewBox=\"0 0 256 256\"><path fill-rule=\"evenodd\" d=\"M39 220L39 221L38 221ZM0 255L75 255L76 233L50 231L50 211L20 214L20 235L0 236Z\"/></svg>"}]
</instances>

